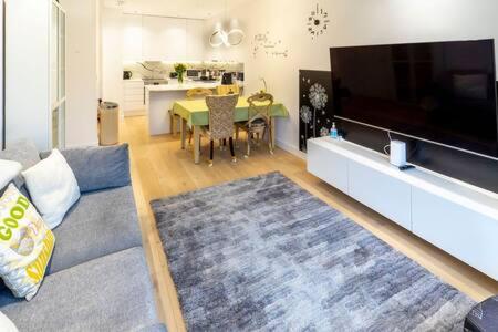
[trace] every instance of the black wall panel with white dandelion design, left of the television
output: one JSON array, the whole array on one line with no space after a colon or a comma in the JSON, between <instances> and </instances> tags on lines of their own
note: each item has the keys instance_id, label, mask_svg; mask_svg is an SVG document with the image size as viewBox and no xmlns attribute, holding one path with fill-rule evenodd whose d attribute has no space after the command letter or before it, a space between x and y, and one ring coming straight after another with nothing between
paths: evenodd
<instances>
[{"instance_id":1,"label":"black wall panel with white dandelion design, left of the television","mask_svg":"<svg viewBox=\"0 0 498 332\"><path fill-rule=\"evenodd\" d=\"M329 71L299 71L299 148L309 138L328 136L333 123L332 81Z\"/></svg>"}]
</instances>

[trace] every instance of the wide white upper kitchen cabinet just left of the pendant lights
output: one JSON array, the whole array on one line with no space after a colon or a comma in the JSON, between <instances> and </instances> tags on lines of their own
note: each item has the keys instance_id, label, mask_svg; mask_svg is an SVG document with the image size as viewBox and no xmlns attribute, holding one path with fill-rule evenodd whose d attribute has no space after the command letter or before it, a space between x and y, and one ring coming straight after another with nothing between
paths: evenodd
<instances>
[{"instance_id":1,"label":"wide white upper kitchen cabinet just left of the pendant lights","mask_svg":"<svg viewBox=\"0 0 498 332\"><path fill-rule=\"evenodd\" d=\"M160 17L143 18L143 59L181 61L187 58L187 20Z\"/></svg>"}]
</instances>

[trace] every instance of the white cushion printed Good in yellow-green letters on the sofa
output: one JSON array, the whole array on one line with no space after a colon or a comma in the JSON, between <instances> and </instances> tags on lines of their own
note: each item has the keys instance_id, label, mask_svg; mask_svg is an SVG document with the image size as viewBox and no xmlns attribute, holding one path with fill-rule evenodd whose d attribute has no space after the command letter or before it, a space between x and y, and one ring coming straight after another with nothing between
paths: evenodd
<instances>
[{"instance_id":1,"label":"white cushion printed Good in yellow-green letters on the sofa","mask_svg":"<svg viewBox=\"0 0 498 332\"><path fill-rule=\"evenodd\" d=\"M0 198L0 277L17 298L37 294L54 243L33 205L9 185Z\"/></svg>"}]
</instances>

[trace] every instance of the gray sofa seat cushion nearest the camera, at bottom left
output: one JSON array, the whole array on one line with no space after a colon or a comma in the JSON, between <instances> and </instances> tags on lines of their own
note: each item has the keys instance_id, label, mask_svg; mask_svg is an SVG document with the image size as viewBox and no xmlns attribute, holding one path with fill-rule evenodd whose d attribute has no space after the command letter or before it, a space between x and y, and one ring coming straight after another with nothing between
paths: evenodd
<instances>
[{"instance_id":1,"label":"gray sofa seat cushion nearest the camera, at bottom left","mask_svg":"<svg viewBox=\"0 0 498 332\"><path fill-rule=\"evenodd\" d=\"M2 292L0 310L19 331L147 331L160 323L142 247L49 276L30 302Z\"/></svg>"}]
</instances>

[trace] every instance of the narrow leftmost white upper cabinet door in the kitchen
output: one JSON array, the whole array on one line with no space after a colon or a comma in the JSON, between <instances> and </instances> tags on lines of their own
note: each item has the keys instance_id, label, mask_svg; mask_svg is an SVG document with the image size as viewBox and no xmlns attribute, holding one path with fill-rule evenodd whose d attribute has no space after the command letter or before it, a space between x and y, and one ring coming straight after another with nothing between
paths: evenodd
<instances>
[{"instance_id":1,"label":"narrow leftmost white upper cabinet door in the kitchen","mask_svg":"<svg viewBox=\"0 0 498 332\"><path fill-rule=\"evenodd\" d=\"M142 15L123 15L123 60L143 60L143 29Z\"/></svg>"}]
</instances>

